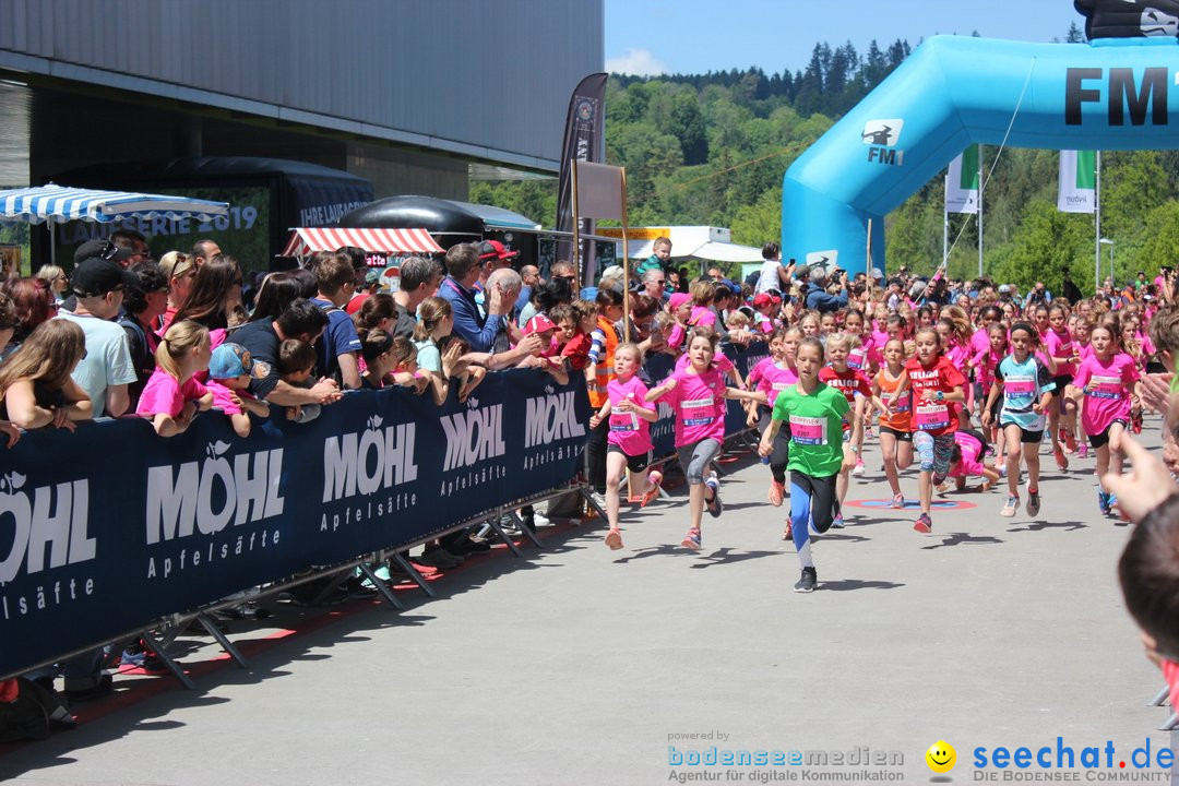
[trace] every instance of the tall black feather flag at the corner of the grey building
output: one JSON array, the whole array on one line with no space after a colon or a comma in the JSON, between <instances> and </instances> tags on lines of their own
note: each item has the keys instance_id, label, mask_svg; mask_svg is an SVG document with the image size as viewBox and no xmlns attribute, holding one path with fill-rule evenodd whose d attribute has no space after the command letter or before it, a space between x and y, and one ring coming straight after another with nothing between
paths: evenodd
<instances>
[{"instance_id":1,"label":"tall black feather flag at the corner of the grey building","mask_svg":"<svg viewBox=\"0 0 1179 786\"><path fill-rule=\"evenodd\" d=\"M565 120L565 143L561 145L561 177L556 192L556 230L573 231L573 194L571 192L572 161L602 163L605 148L606 118L606 78L607 74L590 74L582 79L569 98L569 114ZM593 232L593 220L581 220L582 232ZM585 249L588 240L582 240L581 258L591 262ZM555 259L573 259L573 242L561 239L556 243ZM555 260L554 259L554 260ZM582 264L582 269L588 269ZM582 279L585 275L582 273Z\"/></svg>"}]
</instances>

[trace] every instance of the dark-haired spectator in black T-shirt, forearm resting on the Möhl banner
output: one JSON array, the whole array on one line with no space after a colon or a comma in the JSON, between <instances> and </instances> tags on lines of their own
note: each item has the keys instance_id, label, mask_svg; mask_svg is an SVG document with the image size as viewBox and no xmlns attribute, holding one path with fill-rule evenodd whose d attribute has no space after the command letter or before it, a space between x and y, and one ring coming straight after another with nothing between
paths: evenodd
<instances>
[{"instance_id":1,"label":"dark-haired spectator in black T-shirt, forearm resting on the M\u00f6hl banner","mask_svg":"<svg viewBox=\"0 0 1179 786\"><path fill-rule=\"evenodd\" d=\"M278 350L288 338L297 338L308 344L315 342L328 325L328 315L310 300L294 300L277 319L250 322L233 333L233 342L241 344L253 358L253 378L250 392L255 398L278 407L301 404L330 404L340 401L335 381L322 378L310 388L297 388L278 378Z\"/></svg>"}]
</instances>

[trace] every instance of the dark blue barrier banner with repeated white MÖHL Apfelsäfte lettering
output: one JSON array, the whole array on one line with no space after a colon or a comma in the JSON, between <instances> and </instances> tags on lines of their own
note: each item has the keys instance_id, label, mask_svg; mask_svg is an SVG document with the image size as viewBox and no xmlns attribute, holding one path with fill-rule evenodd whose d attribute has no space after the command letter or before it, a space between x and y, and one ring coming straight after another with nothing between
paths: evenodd
<instances>
[{"instance_id":1,"label":"dark blue barrier banner with repeated white M\u00d6HL Apfels\u00e4fte lettering","mask_svg":"<svg viewBox=\"0 0 1179 786\"><path fill-rule=\"evenodd\" d=\"M588 417L582 383L513 370L462 404L354 391L244 440L219 412L169 440L139 418L26 434L0 449L0 674L556 488Z\"/></svg>"}]
</instances>

